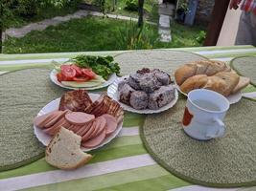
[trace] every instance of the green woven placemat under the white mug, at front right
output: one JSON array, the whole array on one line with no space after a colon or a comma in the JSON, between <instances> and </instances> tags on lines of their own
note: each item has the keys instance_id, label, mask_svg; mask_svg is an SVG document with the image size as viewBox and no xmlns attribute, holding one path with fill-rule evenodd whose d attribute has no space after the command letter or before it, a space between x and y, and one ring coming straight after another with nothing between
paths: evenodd
<instances>
[{"instance_id":1,"label":"green woven placemat under the white mug, at front right","mask_svg":"<svg viewBox=\"0 0 256 191\"><path fill-rule=\"evenodd\" d=\"M141 137L160 165L175 176L215 187L256 185L256 101L232 105L224 138L198 141L182 130L186 100L173 109L146 117Z\"/></svg>"}]
</instances>

